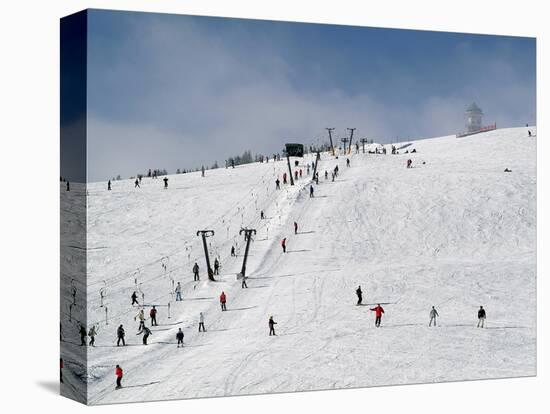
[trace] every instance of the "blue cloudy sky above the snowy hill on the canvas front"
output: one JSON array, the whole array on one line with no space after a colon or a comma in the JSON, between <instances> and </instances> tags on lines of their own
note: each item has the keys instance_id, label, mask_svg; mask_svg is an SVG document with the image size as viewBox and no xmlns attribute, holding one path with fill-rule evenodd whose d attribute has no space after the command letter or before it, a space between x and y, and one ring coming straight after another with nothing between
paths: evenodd
<instances>
[{"instance_id":1,"label":"blue cloudy sky above the snowy hill on the canvas front","mask_svg":"<svg viewBox=\"0 0 550 414\"><path fill-rule=\"evenodd\" d=\"M250 149L534 124L532 38L92 10L88 181Z\"/></svg>"}]
</instances>

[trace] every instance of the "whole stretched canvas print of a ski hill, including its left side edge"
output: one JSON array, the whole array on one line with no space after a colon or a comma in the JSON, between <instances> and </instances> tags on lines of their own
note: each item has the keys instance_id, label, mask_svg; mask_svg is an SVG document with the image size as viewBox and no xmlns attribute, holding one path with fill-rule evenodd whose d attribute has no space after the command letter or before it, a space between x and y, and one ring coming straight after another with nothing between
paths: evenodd
<instances>
[{"instance_id":1,"label":"whole stretched canvas print of a ski hill, including its left side edge","mask_svg":"<svg viewBox=\"0 0 550 414\"><path fill-rule=\"evenodd\" d=\"M62 395L536 375L534 38L61 19Z\"/></svg>"}]
</instances>

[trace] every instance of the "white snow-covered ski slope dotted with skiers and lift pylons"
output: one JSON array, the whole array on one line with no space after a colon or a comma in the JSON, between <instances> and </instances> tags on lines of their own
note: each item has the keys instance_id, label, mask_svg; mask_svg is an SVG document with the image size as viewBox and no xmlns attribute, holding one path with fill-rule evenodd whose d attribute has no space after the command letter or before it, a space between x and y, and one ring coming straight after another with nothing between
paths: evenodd
<instances>
[{"instance_id":1,"label":"white snow-covered ski slope dotted with skiers and lift pylons","mask_svg":"<svg viewBox=\"0 0 550 414\"><path fill-rule=\"evenodd\" d=\"M345 156L323 153L313 198L309 155L300 160L304 177L279 191L286 160L170 175L166 190L162 179L144 178L140 189L116 181L110 192L88 184L86 318L99 333L87 377L69 383L87 381L88 402L106 404L535 375L536 138L512 128L410 144L416 153L390 155L389 145L388 155L354 153L349 168ZM248 289L236 279L241 227L257 229ZM215 231L216 282L206 277L203 229ZM381 328L373 306L356 306L358 285L364 304L384 307ZM158 306L147 346L136 335L134 290ZM437 328L428 327L432 305ZM486 329L476 328L480 305ZM63 324L74 335L67 349L80 348L76 324ZM116 347L120 324L126 347ZM116 364L125 372L120 390Z\"/></svg>"}]
</instances>

